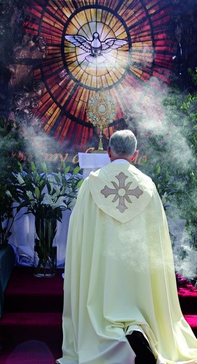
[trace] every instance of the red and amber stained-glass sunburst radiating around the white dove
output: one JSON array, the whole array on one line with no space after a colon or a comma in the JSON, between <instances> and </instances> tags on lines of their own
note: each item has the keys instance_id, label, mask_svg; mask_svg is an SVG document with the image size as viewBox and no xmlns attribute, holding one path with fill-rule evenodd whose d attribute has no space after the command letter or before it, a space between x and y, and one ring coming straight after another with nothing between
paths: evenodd
<instances>
[{"instance_id":1,"label":"red and amber stained-glass sunburst radiating around the white dove","mask_svg":"<svg viewBox=\"0 0 197 364\"><path fill-rule=\"evenodd\" d=\"M106 89L116 101L117 119L104 130L109 137L130 105L142 100L137 89L151 76L168 82L172 60L165 34L170 20L166 2L29 0L26 8L26 31L43 36L48 46L46 60L35 71L36 79L46 86L37 114L46 133L60 142L68 139L74 123L72 131L77 135L70 145L86 150L88 137L93 135L86 109L99 90ZM92 43L95 34L101 50ZM86 38L92 43L91 51L76 46L71 37ZM122 45L113 48L111 41L106 53L108 39Z\"/></svg>"}]
</instances>

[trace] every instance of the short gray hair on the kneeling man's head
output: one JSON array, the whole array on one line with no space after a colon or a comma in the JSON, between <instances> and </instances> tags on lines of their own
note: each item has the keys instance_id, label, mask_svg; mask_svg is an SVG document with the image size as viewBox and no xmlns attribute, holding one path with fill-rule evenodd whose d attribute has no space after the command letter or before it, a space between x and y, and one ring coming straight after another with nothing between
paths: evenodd
<instances>
[{"instance_id":1,"label":"short gray hair on the kneeling man's head","mask_svg":"<svg viewBox=\"0 0 197 364\"><path fill-rule=\"evenodd\" d=\"M133 156L137 139L131 130L118 130L109 139L109 148L115 156Z\"/></svg>"}]
</instances>

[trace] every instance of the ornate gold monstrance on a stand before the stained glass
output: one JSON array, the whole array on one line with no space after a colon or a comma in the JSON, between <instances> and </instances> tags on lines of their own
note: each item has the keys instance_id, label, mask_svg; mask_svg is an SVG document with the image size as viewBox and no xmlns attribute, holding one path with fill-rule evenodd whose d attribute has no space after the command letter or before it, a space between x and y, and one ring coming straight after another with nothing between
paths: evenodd
<instances>
[{"instance_id":1,"label":"ornate gold monstrance on a stand before the stained glass","mask_svg":"<svg viewBox=\"0 0 197 364\"><path fill-rule=\"evenodd\" d=\"M99 128L100 131L98 149L94 152L104 153L102 145L103 130L107 128L116 116L114 100L108 93L98 91L88 102L87 116L89 121L93 123L93 126Z\"/></svg>"}]
</instances>

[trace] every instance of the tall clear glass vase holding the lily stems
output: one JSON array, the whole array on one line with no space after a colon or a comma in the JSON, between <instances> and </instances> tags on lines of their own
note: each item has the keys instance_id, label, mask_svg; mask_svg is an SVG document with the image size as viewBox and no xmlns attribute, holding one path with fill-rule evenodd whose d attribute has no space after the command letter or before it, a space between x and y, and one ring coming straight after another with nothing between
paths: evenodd
<instances>
[{"instance_id":1,"label":"tall clear glass vase holding the lily stems","mask_svg":"<svg viewBox=\"0 0 197 364\"><path fill-rule=\"evenodd\" d=\"M53 277L57 269L57 247L53 246L57 220L35 217L35 228L34 276Z\"/></svg>"}]
</instances>

